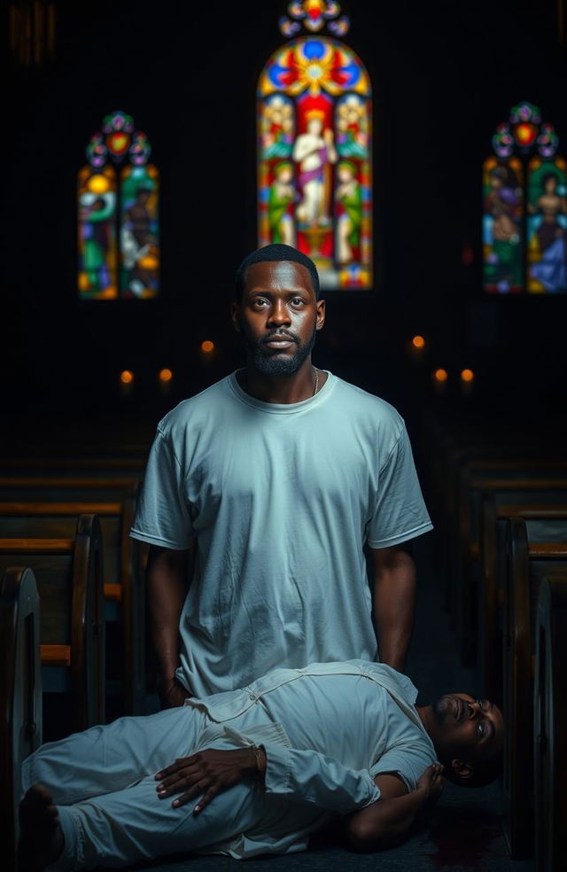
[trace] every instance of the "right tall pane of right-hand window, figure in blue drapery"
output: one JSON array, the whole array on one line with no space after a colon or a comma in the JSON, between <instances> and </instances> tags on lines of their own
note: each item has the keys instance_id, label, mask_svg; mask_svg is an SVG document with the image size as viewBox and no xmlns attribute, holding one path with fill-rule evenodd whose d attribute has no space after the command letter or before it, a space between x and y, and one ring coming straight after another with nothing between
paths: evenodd
<instances>
[{"instance_id":1,"label":"right tall pane of right-hand window, figure in blue drapery","mask_svg":"<svg viewBox=\"0 0 567 872\"><path fill-rule=\"evenodd\" d=\"M533 157L527 188L527 291L567 291L567 164Z\"/></svg>"}]
</instances>

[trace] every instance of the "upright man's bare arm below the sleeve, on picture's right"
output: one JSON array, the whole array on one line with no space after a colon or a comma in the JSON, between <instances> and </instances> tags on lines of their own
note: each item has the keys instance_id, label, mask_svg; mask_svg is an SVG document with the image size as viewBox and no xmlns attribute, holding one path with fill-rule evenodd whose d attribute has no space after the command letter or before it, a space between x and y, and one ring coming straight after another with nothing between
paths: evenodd
<instances>
[{"instance_id":1,"label":"upright man's bare arm below the sleeve, on picture's right","mask_svg":"<svg viewBox=\"0 0 567 872\"><path fill-rule=\"evenodd\" d=\"M416 564L406 546L369 549L380 662L404 671L416 602Z\"/></svg>"}]
</instances>

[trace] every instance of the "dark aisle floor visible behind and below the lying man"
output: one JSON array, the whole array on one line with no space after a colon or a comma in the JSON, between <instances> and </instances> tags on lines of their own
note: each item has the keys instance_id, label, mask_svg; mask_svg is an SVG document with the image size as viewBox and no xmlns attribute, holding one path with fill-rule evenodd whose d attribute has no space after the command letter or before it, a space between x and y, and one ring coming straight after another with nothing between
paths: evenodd
<instances>
[{"instance_id":1,"label":"dark aisle floor visible behind and below the lying man","mask_svg":"<svg viewBox=\"0 0 567 872\"><path fill-rule=\"evenodd\" d=\"M454 633L442 609L435 564L435 533L416 540L419 573L416 627L408 656L408 675L419 689L418 704L447 690L475 691L475 674L460 666ZM437 806L411 837L379 854L350 852L332 833L315 837L307 853L245 860L253 872L532 872L530 862L509 860L501 828L500 790L494 783L462 790L446 782ZM136 869L144 872L229 872L237 860L176 856Z\"/></svg>"}]
</instances>

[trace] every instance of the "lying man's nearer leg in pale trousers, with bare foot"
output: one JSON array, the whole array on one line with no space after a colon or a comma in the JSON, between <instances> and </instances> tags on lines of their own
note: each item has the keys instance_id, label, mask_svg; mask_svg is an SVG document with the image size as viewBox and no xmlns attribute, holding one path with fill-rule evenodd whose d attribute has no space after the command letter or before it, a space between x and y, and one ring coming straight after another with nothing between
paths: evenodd
<instances>
[{"instance_id":1,"label":"lying man's nearer leg in pale trousers, with bare foot","mask_svg":"<svg viewBox=\"0 0 567 872\"><path fill-rule=\"evenodd\" d=\"M214 798L200 814L160 800L153 776L125 790L54 807L33 786L20 805L20 860L26 872L120 868L171 853L215 845L257 827L265 797L242 783Z\"/></svg>"}]
</instances>

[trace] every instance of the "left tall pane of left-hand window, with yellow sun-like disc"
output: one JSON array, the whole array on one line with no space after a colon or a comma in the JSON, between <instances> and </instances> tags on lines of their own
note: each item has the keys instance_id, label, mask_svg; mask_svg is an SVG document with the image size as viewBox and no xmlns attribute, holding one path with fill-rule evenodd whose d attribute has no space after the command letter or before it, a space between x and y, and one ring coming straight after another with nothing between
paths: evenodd
<instances>
[{"instance_id":1,"label":"left tall pane of left-hand window, with yellow sun-like disc","mask_svg":"<svg viewBox=\"0 0 567 872\"><path fill-rule=\"evenodd\" d=\"M85 300L115 300L118 283L113 167L82 167L77 196L79 292Z\"/></svg>"}]
</instances>

